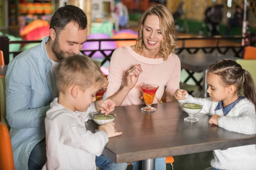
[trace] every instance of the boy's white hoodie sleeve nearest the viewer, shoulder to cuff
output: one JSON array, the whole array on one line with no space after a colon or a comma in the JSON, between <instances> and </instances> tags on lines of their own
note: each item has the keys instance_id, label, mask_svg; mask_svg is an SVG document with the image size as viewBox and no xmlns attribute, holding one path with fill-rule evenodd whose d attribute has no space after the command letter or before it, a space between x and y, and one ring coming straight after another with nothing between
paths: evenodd
<instances>
[{"instance_id":1,"label":"boy's white hoodie sleeve nearest the viewer, shoulder to cuff","mask_svg":"<svg viewBox=\"0 0 256 170\"><path fill-rule=\"evenodd\" d=\"M66 121L68 120L68 123ZM105 145L108 142L107 134L100 130L92 133L85 127L79 125L79 122L70 115L63 114L56 119L56 125L59 130L59 140L64 145L74 147L80 150L86 150L96 156L100 156Z\"/></svg>"}]
</instances>

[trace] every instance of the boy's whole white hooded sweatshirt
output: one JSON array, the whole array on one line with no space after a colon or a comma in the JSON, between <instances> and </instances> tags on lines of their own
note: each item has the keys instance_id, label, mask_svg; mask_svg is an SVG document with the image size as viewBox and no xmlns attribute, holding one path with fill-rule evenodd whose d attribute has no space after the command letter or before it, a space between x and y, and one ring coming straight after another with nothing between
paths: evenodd
<instances>
[{"instance_id":1,"label":"boy's whole white hooded sweatshirt","mask_svg":"<svg viewBox=\"0 0 256 170\"><path fill-rule=\"evenodd\" d=\"M93 112L94 103L87 112L73 112L53 100L44 121L47 162L42 170L96 170L95 156L101 155L108 136L86 130L84 122Z\"/></svg>"}]
</instances>

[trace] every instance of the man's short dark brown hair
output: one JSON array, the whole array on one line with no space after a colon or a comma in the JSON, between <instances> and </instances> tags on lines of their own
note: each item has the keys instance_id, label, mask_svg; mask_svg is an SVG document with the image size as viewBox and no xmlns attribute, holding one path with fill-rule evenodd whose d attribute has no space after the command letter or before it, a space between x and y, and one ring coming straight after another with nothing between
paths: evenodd
<instances>
[{"instance_id":1,"label":"man's short dark brown hair","mask_svg":"<svg viewBox=\"0 0 256 170\"><path fill-rule=\"evenodd\" d=\"M52 16L50 28L54 29L56 35L69 23L79 26L80 30L87 28L87 17L83 10L77 6L67 5L58 8Z\"/></svg>"}]
</instances>

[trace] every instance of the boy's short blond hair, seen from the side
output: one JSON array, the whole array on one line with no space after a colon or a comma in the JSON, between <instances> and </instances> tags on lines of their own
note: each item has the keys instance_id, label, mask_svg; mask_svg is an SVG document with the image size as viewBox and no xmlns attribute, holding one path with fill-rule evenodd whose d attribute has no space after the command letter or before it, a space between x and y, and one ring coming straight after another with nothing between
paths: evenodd
<instances>
[{"instance_id":1,"label":"boy's short blond hair, seen from the side","mask_svg":"<svg viewBox=\"0 0 256 170\"><path fill-rule=\"evenodd\" d=\"M63 59L58 65L56 81L60 92L65 92L71 85L79 85L82 90L85 90L93 85L102 85L104 76L89 57L74 55Z\"/></svg>"}]
</instances>

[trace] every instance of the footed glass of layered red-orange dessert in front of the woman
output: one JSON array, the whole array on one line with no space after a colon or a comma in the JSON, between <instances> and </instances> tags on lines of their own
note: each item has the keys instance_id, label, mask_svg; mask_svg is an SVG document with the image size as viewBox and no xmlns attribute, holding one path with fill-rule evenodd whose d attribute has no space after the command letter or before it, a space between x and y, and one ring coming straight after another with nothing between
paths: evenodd
<instances>
[{"instance_id":1,"label":"footed glass of layered red-orange dessert in front of the woman","mask_svg":"<svg viewBox=\"0 0 256 170\"><path fill-rule=\"evenodd\" d=\"M146 112L156 111L156 109L151 107L151 105L154 101L154 96L156 95L156 92L159 86L158 85L140 85L140 88L143 92L145 104L147 105L146 107L141 108L141 110Z\"/></svg>"}]
</instances>

